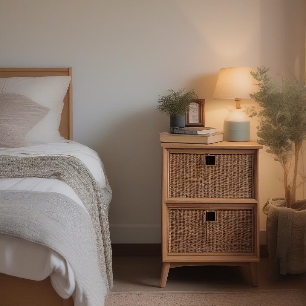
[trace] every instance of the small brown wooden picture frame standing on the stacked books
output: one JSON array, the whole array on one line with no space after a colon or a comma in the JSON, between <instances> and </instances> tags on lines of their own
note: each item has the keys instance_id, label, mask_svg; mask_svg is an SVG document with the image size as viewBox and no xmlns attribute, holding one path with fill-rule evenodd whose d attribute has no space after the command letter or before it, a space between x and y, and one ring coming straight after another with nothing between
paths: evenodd
<instances>
[{"instance_id":1,"label":"small brown wooden picture frame standing on the stacked books","mask_svg":"<svg viewBox=\"0 0 306 306\"><path fill-rule=\"evenodd\" d=\"M190 105L191 104L191 105ZM186 127L205 127L205 99L193 99L186 113Z\"/></svg>"}]
</instances>

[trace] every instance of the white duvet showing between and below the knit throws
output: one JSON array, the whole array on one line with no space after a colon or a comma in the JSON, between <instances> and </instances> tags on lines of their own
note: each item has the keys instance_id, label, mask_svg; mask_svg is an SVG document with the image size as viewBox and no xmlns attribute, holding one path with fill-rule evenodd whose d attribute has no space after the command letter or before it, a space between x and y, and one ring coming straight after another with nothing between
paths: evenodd
<instances>
[{"instance_id":1,"label":"white duvet showing between and below the knit throws","mask_svg":"<svg viewBox=\"0 0 306 306\"><path fill-rule=\"evenodd\" d=\"M69 142L69 143L67 143ZM104 166L99 155L90 148L73 141L39 144L24 148L0 148L0 155L41 156L66 155L83 162L95 177L100 188L105 188ZM85 209L82 201L66 183L38 177L0 179L0 190L28 190L58 192L70 197ZM109 205L110 198L106 197ZM55 291L63 298L73 295L75 278L69 263L49 248L0 236L0 273L32 280L50 276Z\"/></svg>"}]
</instances>

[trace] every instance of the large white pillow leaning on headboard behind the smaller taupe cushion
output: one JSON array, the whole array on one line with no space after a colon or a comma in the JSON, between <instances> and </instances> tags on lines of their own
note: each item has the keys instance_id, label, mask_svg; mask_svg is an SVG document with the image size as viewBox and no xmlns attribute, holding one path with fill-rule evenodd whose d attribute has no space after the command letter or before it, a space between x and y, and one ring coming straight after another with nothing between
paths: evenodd
<instances>
[{"instance_id":1,"label":"large white pillow leaning on headboard behind the smaller taupe cushion","mask_svg":"<svg viewBox=\"0 0 306 306\"><path fill-rule=\"evenodd\" d=\"M29 144L59 142L64 139L58 131L64 97L70 76L40 76L0 78L0 94L16 93L50 108L50 112L26 135Z\"/></svg>"}]
</instances>

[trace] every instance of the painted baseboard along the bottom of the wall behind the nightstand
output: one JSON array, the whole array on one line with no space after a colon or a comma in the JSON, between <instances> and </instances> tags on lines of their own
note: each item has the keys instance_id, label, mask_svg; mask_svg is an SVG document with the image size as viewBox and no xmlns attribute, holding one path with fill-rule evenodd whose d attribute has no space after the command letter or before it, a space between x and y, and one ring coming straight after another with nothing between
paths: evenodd
<instances>
[{"instance_id":1,"label":"painted baseboard along the bottom of the wall behind the nightstand","mask_svg":"<svg viewBox=\"0 0 306 306\"><path fill-rule=\"evenodd\" d=\"M160 224L111 224L112 243L160 243ZM266 229L260 229L259 243L266 244Z\"/></svg>"}]
</instances>

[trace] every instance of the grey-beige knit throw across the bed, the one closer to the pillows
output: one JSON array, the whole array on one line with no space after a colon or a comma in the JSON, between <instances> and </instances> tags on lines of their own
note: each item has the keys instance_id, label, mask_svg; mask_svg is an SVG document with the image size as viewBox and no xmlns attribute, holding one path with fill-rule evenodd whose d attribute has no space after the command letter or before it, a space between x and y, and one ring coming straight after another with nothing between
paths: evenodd
<instances>
[{"instance_id":1,"label":"grey-beige knit throw across the bed, the one closer to the pillows","mask_svg":"<svg viewBox=\"0 0 306 306\"><path fill-rule=\"evenodd\" d=\"M112 288L113 274L107 205L88 168L78 159L67 156L15 157L0 155L0 179L21 177L58 179L67 183L76 192L88 211L95 230L100 273L107 290ZM111 193L107 178L106 189ZM35 192L30 192L30 194L35 197ZM0 198L1 203L2 198ZM53 203L48 203L53 205ZM61 218L60 214L59 218ZM79 225L76 223L76 226ZM31 238L29 237L29 239Z\"/></svg>"}]
</instances>

